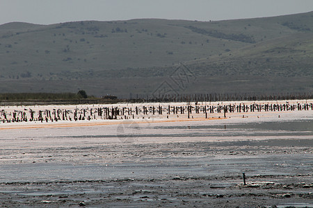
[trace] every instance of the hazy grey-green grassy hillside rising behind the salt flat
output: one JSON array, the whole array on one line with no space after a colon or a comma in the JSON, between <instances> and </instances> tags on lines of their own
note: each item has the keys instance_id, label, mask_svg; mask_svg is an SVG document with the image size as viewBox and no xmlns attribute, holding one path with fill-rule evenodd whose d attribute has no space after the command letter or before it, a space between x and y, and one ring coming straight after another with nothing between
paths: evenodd
<instances>
[{"instance_id":1,"label":"hazy grey-green grassy hillside rising behind the salt flat","mask_svg":"<svg viewBox=\"0 0 313 208\"><path fill-rule=\"evenodd\" d=\"M128 98L152 96L166 82L175 94L312 93L312 55L313 12L207 22L14 22L0 26L0 89ZM179 84L179 71L190 79Z\"/></svg>"}]
</instances>

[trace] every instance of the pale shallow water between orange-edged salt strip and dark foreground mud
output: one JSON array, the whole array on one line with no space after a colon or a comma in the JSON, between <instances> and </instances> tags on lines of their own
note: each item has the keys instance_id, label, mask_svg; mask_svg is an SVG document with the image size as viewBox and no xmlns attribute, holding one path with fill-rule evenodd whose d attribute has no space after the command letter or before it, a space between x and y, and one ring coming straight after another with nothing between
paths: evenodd
<instances>
[{"instance_id":1,"label":"pale shallow water between orange-edged salt strip and dark foreground mud","mask_svg":"<svg viewBox=\"0 0 313 208\"><path fill-rule=\"evenodd\" d=\"M123 134L116 125L11 130L1 139L0 182L312 171L312 121L203 123L136 124ZM305 148L309 155L297 152Z\"/></svg>"}]
</instances>

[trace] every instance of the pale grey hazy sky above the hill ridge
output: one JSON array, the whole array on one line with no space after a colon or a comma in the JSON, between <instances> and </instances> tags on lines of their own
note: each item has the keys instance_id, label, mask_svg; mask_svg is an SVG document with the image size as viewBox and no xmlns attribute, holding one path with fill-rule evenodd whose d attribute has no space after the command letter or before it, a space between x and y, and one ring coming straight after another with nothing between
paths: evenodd
<instances>
[{"instance_id":1,"label":"pale grey hazy sky above the hill ridge","mask_svg":"<svg viewBox=\"0 0 313 208\"><path fill-rule=\"evenodd\" d=\"M137 18L209 21L312 10L313 0L0 0L0 24Z\"/></svg>"}]
</instances>

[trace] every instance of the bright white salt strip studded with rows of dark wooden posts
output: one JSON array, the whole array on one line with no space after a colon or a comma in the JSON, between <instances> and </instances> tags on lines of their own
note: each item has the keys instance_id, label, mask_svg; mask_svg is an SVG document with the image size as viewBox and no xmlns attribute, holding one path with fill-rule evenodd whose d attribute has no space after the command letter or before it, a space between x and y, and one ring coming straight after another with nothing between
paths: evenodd
<instances>
[{"instance_id":1,"label":"bright white salt strip studded with rows of dark wooden posts","mask_svg":"<svg viewBox=\"0 0 313 208\"><path fill-rule=\"evenodd\" d=\"M22 105L0 107L0 130L15 128L65 128L74 126L118 125L213 121L303 114L312 116L313 100L231 101L191 103L116 103L97 105ZM266 110L266 107L270 107ZM288 116L289 117L289 116Z\"/></svg>"}]
</instances>

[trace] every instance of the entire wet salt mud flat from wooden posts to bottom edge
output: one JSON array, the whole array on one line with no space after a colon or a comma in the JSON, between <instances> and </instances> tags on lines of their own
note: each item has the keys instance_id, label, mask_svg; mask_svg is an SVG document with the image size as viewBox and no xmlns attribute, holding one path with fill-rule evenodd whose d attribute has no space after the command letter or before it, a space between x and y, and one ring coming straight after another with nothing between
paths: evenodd
<instances>
[{"instance_id":1,"label":"entire wet salt mud flat from wooden posts to bottom edge","mask_svg":"<svg viewBox=\"0 0 313 208\"><path fill-rule=\"evenodd\" d=\"M313 207L313 111L226 115L0 123L0 206Z\"/></svg>"}]
</instances>

